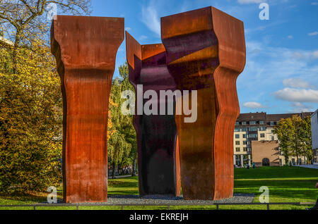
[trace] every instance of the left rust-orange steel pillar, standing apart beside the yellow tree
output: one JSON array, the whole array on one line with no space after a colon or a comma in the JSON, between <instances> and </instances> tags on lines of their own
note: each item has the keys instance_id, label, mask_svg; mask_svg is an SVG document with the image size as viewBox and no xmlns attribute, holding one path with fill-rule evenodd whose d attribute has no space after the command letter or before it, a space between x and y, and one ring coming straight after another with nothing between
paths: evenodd
<instances>
[{"instance_id":1,"label":"left rust-orange steel pillar, standing apart beside the yellow tree","mask_svg":"<svg viewBox=\"0 0 318 224\"><path fill-rule=\"evenodd\" d=\"M107 114L124 18L57 15L51 48L63 94L66 203L107 201Z\"/></svg>"}]
</instances>

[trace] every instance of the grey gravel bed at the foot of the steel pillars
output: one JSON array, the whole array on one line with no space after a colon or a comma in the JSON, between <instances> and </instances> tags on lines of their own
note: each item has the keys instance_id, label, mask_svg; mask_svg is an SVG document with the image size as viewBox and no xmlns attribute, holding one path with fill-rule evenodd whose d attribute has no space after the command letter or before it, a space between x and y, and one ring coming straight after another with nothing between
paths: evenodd
<instances>
[{"instance_id":1,"label":"grey gravel bed at the foot of the steel pillars","mask_svg":"<svg viewBox=\"0 0 318 224\"><path fill-rule=\"evenodd\" d=\"M107 202L102 203L83 203L89 205L110 205L110 204L210 204L210 203L252 203L254 194L234 194L230 199L223 199L218 201L204 201L204 200L184 200L183 197L143 197L139 198L139 195L108 195ZM63 201L58 201L63 203Z\"/></svg>"}]
</instances>

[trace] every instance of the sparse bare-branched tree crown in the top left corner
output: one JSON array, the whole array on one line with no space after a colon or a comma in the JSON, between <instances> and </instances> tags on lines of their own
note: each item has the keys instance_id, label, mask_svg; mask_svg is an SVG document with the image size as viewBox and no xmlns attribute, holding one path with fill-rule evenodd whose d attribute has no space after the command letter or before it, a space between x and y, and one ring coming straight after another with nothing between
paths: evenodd
<instances>
[{"instance_id":1,"label":"sparse bare-branched tree crown in the top left corner","mask_svg":"<svg viewBox=\"0 0 318 224\"><path fill-rule=\"evenodd\" d=\"M0 1L0 27L13 45L13 73L16 73L20 47L30 48L34 39L42 36L42 27L49 23L47 14L52 4L62 13L89 14L90 0L2 0Z\"/></svg>"}]
</instances>

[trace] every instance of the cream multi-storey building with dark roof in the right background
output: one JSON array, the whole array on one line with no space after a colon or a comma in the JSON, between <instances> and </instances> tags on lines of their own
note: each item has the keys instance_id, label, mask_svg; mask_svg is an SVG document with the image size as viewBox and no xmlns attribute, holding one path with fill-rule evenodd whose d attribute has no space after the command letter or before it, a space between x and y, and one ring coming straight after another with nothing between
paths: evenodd
<instances>
[{"instance_id":1,"label":"cream multi-storey building with dark roof in the right background","mask_svg":"<svg viewBox=\"0 0 318 224\"><path fill-rule=\"evenodd\" d=\"M279 120L300 116L305 118L311 116L311 112L305 113L282 113L282 114L267 114L261 113L241 113L237 118L234 130L234 165L245 166L253 161L252 158L252 142L278 141L278 137L273 133L273 127L278 124ZM277 143L278 144L278 143ZM284 165L284 159L281 156L280 165ZM293 158L291 158L292 160ZM303 158L300 158L300 160ZM295 158L294 160L295 161ZM297 163L297 161L295 162Z\"/></svg>"}]
</instances>

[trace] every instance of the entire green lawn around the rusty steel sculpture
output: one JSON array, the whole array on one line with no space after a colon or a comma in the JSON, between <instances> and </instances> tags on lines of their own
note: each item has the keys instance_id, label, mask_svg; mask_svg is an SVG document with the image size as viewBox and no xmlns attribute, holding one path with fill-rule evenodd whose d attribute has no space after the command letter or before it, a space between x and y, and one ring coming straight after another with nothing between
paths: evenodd
<instances>
[{"instance_id":1,"label":"entire green lawn around the rusty steel sculpture","mask_svg":"<svg viewBox=\"0 0 318 224\"><path fill-rule=\"evenodd\" d=\"M315 202L318 189L318 170L300 167L261 167L257 169L235 169L234 193L255 194L253 202L259 202L259 187L269 187L269 202ZM58 199L62 199L62 188L58 188ZM138 178L108 180L108 194L139 194ZM26 195L0 195L0 204L37 204L47 199L47 192ZM305 209L307 206L271 205L270 209ZM25 207L2 207L0 209L33 209ZM37 207L41 209L76 209L76 207ZM90 206L79 209L121 209L118 206ZM166 206L124 206L124 209L167 209ZM170 209L216 209L216 206L170 206ZM219 206L219 209L266 209L266 205Z\"/></svg>"}]
</instances>

